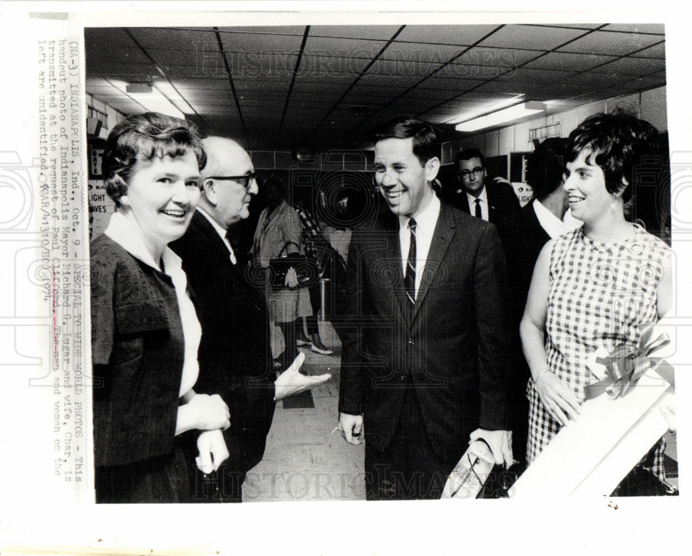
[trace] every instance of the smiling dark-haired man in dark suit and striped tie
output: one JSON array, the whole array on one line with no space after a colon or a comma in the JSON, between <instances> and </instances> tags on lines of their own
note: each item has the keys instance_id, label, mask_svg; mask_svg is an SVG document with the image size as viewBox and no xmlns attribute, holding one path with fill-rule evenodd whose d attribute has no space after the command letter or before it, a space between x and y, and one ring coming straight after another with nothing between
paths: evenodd
<instances>
[{"instance_id":1,"label":"smiling dark-haired man in dark suit and striped tie","mask_svg":"<svg viewBox=\"0 0 692 556\"><path fill-rule=\"evenodd\" d=\"M374 140L389 212L349 247L339 426L351 444L365 435L368 500L434 499L470 439L512 463L504 260L495 226L433 192L435 129L398 118Z\"/></svg>"}]
</instances>

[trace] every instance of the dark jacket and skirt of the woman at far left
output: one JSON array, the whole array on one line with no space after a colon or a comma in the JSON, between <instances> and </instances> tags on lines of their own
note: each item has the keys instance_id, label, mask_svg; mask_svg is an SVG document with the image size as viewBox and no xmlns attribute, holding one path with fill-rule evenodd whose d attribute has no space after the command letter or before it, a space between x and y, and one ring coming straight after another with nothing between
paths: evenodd
<instances>
[{"instance_id":1,"label":"dark jacket and skirt of the woman at far left","mask_svg":"<svg viewBox=\"0 0 692 556\"><path fill-rule=\"evenodd\" d=\"M187 483L176 469L183 357L170 277L98 237L91 244L97 501L179 501Z\"/></svg>"}]
</instances>

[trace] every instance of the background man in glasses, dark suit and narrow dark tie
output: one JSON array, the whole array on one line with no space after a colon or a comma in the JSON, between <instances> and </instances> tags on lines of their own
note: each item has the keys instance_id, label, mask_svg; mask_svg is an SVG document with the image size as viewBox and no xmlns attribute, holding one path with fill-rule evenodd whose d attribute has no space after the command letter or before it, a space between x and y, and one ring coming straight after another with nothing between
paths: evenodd
<instances>
[{"instance_id":1,"label":"background man in glasses, dark suit and narrow dark tie","mask_svg":"<svg viewBox=\"0 0 692 556\"><path fill-rule=\"evenodd\" d=\"M477 149L464 149L454 159L459 188L444 198L450 204L495 224L505 249L516 230L515 219L521 208L512 186L506 181L487 181L485 158Z\"/></svg>"}]
</instances>

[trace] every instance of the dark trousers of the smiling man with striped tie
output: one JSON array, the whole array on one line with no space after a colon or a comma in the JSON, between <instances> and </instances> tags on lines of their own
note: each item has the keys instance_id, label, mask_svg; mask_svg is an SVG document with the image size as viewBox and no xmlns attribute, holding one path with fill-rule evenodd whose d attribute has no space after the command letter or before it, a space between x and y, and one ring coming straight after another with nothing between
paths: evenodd
<instances>
[{"instance_id":1,"label":"dark trousers of the smiling man with striped tie","mask_svg":"<svg viewBox=\"0 0 692 556\"><path fill-rule=\"evenodd\" d=\"M457 460L443 461L435 455L415 391L406 388L390 445L377 450L365 442L365 499L439 499Z\"/></svg>"}]
</instances>

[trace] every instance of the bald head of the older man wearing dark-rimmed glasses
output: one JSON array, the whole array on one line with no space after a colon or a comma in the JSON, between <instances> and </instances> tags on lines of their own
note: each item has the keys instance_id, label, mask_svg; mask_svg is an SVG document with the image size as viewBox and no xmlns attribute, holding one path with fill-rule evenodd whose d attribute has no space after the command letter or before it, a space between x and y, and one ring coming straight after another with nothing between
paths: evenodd
<instances>
[{"instance_id":1,"label":"bald head of the older man wearing dark-rimmed glasses","mask_svg":"<svg viewBox=\"0 0 692 556\"><path fill-rule=\"evenodd\" d=\"M202 176L202 196L199 206L219 226L228 226L246 219L252 196L257 193L253 179L245 186L244 176L254 174L250 155L233 139L208 137L202 140L207 163ZM223 179L233 177L235 179Z\"/></svg>"}]
</instances>

